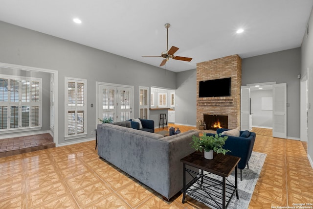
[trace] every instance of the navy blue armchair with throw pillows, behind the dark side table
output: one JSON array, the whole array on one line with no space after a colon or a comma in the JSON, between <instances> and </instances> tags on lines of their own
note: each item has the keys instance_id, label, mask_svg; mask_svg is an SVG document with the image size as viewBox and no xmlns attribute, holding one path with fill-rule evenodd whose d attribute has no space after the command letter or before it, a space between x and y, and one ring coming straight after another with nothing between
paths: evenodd
<instances>
[{"instance_id":1,"label":"navy blue armchair with throw pillows, behind the dark side table","mask_svg":"<svg viewBox=\"0 0 313 209\"><path fill-rule=\"evenodd\" d=\"M219 128L216 130L216 133L220 134L228 130L229 129ZM211 134L211 133L206 134L206 136L212 136L212 135L215 135L215 134ZM223 148L231 151L231 152L227 152L227 155L232 155L232 156L241 158L238 163L238 168L240 169L240 179L243 180L242 170L246 166L249 168L248 162L252 154L256 135L254 132L240 131L240 137L232 137L232 136L227 136L227 137L228 139L225 141Z\"/></svg>"}]
</instances>

